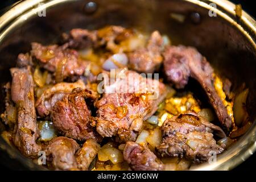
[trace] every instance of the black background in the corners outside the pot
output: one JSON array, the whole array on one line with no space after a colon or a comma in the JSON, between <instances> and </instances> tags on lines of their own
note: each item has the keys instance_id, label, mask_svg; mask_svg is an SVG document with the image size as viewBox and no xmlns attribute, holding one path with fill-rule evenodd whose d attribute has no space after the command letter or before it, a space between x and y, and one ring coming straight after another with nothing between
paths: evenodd
<instances>
[{"instance_id":1,"label":"black background in the corners outside the pot","mask_svg":"<svg viewBox=\"0 0 256 182\"><path fill-rule=\"evenodd\" d=\"M254 0L230 0L236 4L240 3L242 5L242 9L245 10L247 13L249 13L251 16L254 16L256 18L256 11L255 11L255 1ZM0 14L5 12L11 5L18 2L17 0L2 0L0 2ZM249 159L247 159L245 162L243 162L240 166L235 168L235 171L240 170L256 170L256 154L251 156ZM0 162L0 169L6 169L3 164Z\"/></svg>"}]
</instances>

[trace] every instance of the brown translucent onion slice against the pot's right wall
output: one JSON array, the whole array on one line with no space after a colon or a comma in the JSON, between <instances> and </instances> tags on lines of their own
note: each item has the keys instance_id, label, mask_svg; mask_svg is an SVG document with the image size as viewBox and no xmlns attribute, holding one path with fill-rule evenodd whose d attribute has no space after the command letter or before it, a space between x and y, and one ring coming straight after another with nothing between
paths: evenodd
<instances>
[{"instance_id":1,"label":"brown translucent onion slice against the pot's right wall","mask_svg":"<svg viewBox=\"0 0 256 182\"><path fill-rule=\"evenodd\" d=\"M234 122L237 126L241 126L242 122L247 118L247 111L245 109L246 99L249 89L243 90L234 100Z\"/></svg>"}]
</instances>

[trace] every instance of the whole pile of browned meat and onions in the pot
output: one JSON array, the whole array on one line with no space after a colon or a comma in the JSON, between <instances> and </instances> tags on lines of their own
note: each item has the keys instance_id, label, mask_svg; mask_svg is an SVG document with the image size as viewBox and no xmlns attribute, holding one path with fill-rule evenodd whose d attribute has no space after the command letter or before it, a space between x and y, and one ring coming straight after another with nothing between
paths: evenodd
<instances>
[{"instance_id":1,"label":"whole pile of browned meat and onions in the pot","mask_svg":"<svg viewBox=\"0 0 256 182\"><path fill-rule=\"evenodd\" d=\"M196 48L171 46L159 31L77 28L61 44L31 47L3 86L1 135L36 163L43 151L49 169L189 169L224 152L251 124L248 90L234 94ZM99 85L108 79L100 75L111 80L104 92ZM201 85L206 107L189 80Z\"/></svg>"}]
</instances>

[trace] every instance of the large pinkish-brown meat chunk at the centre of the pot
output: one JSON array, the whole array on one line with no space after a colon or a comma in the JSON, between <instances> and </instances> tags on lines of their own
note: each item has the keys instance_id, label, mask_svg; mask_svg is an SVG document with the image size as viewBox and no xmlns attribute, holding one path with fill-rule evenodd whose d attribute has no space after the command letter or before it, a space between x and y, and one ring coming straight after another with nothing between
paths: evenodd
<instances>
[{"instance_id":1,"label":"large pinkish-brown meat chunk at the centre of the pot","mask_svg":"<svg viewBox=\"0 0 256 182\"><path fill-rule=\"evenodd\" d=\"M96 102L96 129L102 137L117 136L118 142L135 140L143 120L155 113L166 96L166 86L125 69L116 77Z\"/></svg>"}]
</instances>

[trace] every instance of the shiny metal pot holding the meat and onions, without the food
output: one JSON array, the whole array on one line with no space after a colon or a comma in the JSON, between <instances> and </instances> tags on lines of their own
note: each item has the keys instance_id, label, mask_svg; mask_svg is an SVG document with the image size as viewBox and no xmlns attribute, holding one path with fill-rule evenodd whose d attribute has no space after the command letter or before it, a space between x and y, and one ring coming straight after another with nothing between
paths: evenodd
<instances>
[{"instance_id":1,"label":"shiny metal pot holding the meat and onions, without the food","mask_svg":"<svg viewBox=\"0 0 256 182\"><path fill-rule=\"evenodd\" d=\"M15 65L18 53L30 50L31 42L55 43L71 28L93 29L117 24L144 31L159 30L170 36L172 44L199 49L218 73L232 80L234 90L245 82L250 89L247 110L251 121L255 121L256 22L244 11L240 16L234 9L235 5L225 0L23 1L0 17L0 82L10 80L9 68ZM0 97L3 110L2 94ZM192 169L228 170L236 167L256 150L255 133L256 122L234 146L218 156L217 162ZM1 157L5 156L9 164L44 169L2 138L0 149Z\"/></svg>"}]
</instances>

